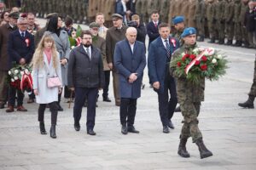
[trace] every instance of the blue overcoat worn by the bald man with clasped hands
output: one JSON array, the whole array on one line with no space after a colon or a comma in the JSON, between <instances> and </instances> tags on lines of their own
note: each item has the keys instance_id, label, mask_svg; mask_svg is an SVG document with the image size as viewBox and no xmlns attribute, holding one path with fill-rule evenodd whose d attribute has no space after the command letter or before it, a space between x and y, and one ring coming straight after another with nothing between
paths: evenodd
<instances>
[{"instance_id":1,"label":"blue overcoat worn by the bald man with clasped hands","mask_svg":"<svg viewBox=\"0 0 256 170\"><path fill-rule=\"evenodd\" d=\"M145 46L136 41L131 53L127 39L117 42L114 50L114 65L119 73L119 89L121 98L137 99L141 96L143 70L146 66ZM137 80L128 82L131 73L137 73Z\"/></svg>"}]
</instances>

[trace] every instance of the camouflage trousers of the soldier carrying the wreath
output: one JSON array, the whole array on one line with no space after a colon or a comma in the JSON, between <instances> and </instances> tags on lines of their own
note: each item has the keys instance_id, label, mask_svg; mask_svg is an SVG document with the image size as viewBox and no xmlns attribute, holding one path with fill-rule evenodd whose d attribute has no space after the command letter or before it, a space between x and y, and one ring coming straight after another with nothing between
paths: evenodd
<instances>
[{"instance_id":1,"label":"camouflage trousers of the soldier carrying the wreath","mask_svg":"<svg viewBox=\"0 0 256 170\"><path fill-rule=\"evenodd\" d=\"M200 102L185 101L180 104L180 109L183 114L183 127L180 134L181 139L192 137L192 141L195 142L197 139L202 138L201 131L198 128L197 119L200 112L200 106Z\"/></svg>"}]
</instances>

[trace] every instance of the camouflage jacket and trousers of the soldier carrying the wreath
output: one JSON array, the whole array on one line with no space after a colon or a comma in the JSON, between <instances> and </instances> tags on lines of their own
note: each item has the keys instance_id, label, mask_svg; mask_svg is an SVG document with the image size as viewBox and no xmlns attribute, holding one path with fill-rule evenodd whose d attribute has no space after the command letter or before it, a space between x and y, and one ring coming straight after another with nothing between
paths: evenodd
<instances>
[{"instance_id":1,"label":"camouflage jacket and trousers of the soldier carrying the wreath","mask_svg":"<svg viewBox=\"0 0 256 170\"><path fill-rule=\"evenodd\" d=\"M172 59L177 58L180 54L192 51L196 45L189 47L186 44L177 49L172 54ZM172 61L171 61L172 63ZM198 127L198 115L200 112L201 101L204 100L205 78L196 85L189 82L185 77L177 77L174 74L175 66L171 67L171 75L177 78L177 101L180 105L183 115L183 127L180 134L180 139L188 139L192 137L193 142L202 138L201 131Z\"/></svg>"}]
</instances>

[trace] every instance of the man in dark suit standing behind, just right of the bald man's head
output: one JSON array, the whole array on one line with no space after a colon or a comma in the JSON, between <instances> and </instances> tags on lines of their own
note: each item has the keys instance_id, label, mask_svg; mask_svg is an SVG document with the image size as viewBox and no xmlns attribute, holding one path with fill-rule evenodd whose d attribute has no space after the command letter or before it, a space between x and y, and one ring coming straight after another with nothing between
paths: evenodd
<instances>
[{"instance_id":1,"label":"man in dark suit standing behind, just right of the bald man's head","mask_svg":"<svg viewBox=\"0 0 256 170\"><path fill-rule=\"evenodd\" d=\"M151 14L151 21L148 23L148 26L147 26L147 32L149 37L148 48L150 43L153 42L154 39L156 39L160 35L158 31L159 25L160 25L159 12L154 10Z\"/></svg>"}]
</instances>

